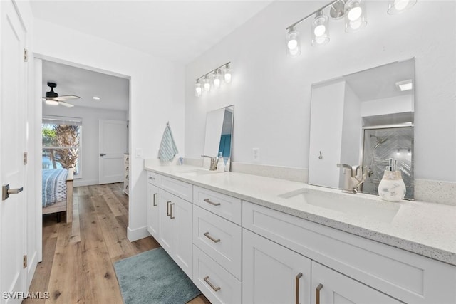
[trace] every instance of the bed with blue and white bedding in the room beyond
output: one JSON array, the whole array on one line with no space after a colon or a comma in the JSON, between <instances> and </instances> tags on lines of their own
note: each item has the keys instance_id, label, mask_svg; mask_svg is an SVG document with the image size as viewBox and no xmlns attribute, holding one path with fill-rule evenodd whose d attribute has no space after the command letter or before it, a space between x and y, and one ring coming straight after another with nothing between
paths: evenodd
<instances>
[{"instance_id":1,"label":"bed with blue and white bedding in the room beyond","mask_svg":"<svg viewBox=\"0 0 456 304\"><path fill-rule=\"evenodd\" d=\"M43 214L66 211L66 221L73 220L73 172L74 169L43 169Z\"/></svg>"}]
</instances>

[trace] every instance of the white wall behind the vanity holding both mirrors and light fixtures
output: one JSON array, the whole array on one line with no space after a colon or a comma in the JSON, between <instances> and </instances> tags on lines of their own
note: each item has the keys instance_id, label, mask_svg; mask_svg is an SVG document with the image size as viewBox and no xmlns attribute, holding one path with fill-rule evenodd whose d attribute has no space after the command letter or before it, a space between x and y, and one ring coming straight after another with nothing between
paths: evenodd
<instances>
[{"instance_id":1,"label":"white wall behind the vanity holding both mirrors and light fixtures","mask_svg":"<svg viewBox=\"0 0 456 304\"><path fill-rule=\"evenodd\" d=\"M311 84L415 57L415 177L456 182L455 1L418 1L396 16L369 1L366 28L348 34L331 20L331 41L316 48L305 21L296 26L301 56L286 57L285 28L321 5L275 1L187 65L186 156L201 154L206 112L234 104L234 162L253 162L259 147L262 164L307 168ZM232 84L196 98L195 78L227 61Z\"/></svg>"}]
</instances>

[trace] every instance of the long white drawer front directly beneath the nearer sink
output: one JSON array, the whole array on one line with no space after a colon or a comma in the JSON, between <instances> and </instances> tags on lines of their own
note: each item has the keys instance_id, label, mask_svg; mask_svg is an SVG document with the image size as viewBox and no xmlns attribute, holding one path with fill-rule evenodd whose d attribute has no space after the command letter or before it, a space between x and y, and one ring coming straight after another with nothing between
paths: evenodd
<instances>
[{"instance_id":1,"label":"long white drawer front directly beneath the nearer sink","mask_svg":"<svg viewBox=\"0 0 456 304\"><path fill-rule=\"evenodd\" d=\"M454 266L247 201L242 209L245 229L393 298L405 303L454 303Z\"/></svg>"}]
</instances>

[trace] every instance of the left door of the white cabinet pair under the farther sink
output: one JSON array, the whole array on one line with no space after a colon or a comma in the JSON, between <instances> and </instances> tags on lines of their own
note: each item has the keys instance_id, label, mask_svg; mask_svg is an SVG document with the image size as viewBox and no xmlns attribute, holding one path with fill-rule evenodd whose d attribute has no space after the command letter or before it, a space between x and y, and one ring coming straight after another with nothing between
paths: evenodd
<instances>
[{"instance_id":1,"label":"left door of the white cabinet pair under the farther sink","mask_svg":"<svg viewBox=\"0 0 456 304\"><path fill-rule=\"evenodd\" d=\"M176 250L176 221L171 218L170 210L174 195L158 189L158 209L159 209L159 238L158 242L165 251L174 258Z\"/></svg>"}]
</instances>

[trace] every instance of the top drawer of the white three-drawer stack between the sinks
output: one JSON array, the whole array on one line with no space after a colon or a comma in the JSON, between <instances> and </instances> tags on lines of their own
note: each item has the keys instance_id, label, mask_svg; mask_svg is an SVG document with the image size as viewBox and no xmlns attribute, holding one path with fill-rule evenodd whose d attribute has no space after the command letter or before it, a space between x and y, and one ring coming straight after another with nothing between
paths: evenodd
<instances>
[{"instance_id":1,"label":"top drawer of the white three-drawer stack between the sinks","mask_svg":"<svg viewBox=\"0 0 456 304\"><path fill-rule=\"evenodd\" d=\"M222 216L238 225L242 219L242 202L232 196L214 192L201 187L194 187L193 204Z\"/></svg>"}]
</instances>

